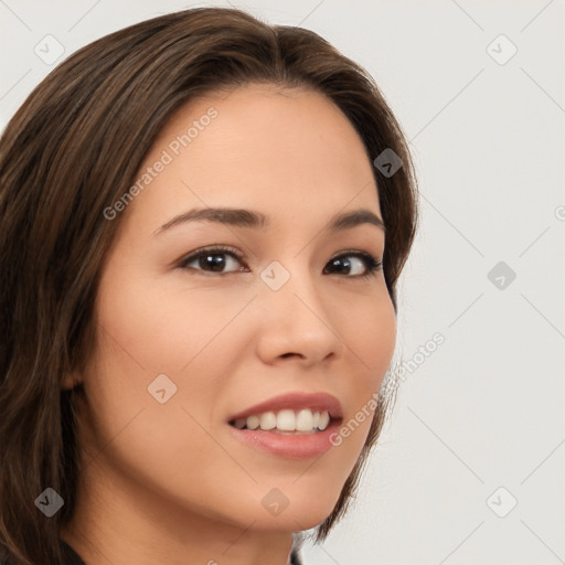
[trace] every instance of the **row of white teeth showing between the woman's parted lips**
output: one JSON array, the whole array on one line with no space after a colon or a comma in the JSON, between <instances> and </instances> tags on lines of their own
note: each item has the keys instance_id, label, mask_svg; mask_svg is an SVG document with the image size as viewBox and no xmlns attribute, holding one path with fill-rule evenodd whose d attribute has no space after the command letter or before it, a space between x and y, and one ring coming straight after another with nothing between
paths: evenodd
<instances>
[{"instance_id":1,"label":"row of white teeth showing between the woman's parted lips","mask_svg":"<svg viewBox=\"0 0 565 565\"><path fill-rule=\"evenodd\" d=\"M317 431L324 430L330 423L330 415L327 411L312 412L308 408L300 411L284 409L279 412L264 412L254 414L247 418L239 418L234 422L238 429L257 429L274 431Z\"/></svg>"}]
</instances>

